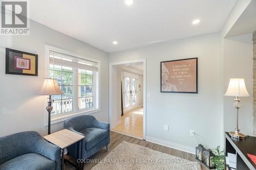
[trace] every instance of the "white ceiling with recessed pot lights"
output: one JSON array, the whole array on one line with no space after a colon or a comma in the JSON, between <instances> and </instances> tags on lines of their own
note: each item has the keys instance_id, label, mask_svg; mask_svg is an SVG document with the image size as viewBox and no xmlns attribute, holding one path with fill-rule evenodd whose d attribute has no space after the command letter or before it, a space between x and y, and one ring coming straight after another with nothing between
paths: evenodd
<instances>
[{"instance_id":1,"label":"white ceiling with recessed pot lights","mask_svg":"<svg viewBox=\"0 0 256 170\"><path fill-rule=\"evenodd\" d=\"M221 30L236 0L33 0L30 18L108 53ZM191 22L200 19L194 26ZM114 45L112 42L117 41Z\"/></svg>"}]
</instances>

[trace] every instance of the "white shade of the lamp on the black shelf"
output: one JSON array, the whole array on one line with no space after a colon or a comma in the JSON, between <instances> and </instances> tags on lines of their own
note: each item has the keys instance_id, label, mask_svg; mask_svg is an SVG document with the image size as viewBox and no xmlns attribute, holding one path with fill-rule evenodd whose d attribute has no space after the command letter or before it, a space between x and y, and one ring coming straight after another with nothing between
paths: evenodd
<instances>
[{"instance_id":1,"label":"white shade of the lamp on the black shelf","mask_svg":"<svg viewBox=\"0 0 256 170\"><path fill-rule=\"evenodd\" d=\"M225 93L226 96L247 97L250 96L246 90L243 78L231 78Z\"/></svg>"}]
</instances>

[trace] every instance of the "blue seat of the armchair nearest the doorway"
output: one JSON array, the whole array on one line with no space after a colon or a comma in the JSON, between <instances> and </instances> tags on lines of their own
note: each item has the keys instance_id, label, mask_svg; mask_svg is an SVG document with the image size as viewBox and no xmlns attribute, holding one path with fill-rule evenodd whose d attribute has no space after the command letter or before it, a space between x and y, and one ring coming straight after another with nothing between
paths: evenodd
<instances>
[{"instance_id":1,"label":"blue seat of the armchair nearest the doorway","mask_svg":"<svg viewBox=\"0 0 256 170\"><path fill-rule=\"evenodd\" d=\"M99 128L84 129L80 133L86 136L86 150L93 148L97 143L109 135L107 130Z\"/></svg>"}]
</instances>

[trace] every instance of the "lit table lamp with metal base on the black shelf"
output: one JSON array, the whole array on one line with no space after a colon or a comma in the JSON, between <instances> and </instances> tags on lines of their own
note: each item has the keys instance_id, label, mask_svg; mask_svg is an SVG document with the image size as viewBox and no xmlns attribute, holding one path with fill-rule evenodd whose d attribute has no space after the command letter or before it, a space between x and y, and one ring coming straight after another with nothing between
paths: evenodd
<instances>
[{"instance_id":1,"label":"lit table lamp with metal base on the black shelf","mask_svg":"<svg viewBox=\"0 0 256 170\"><path fill-rule=\"evenodd\" d=\"M233 106L237 109L237 127L234 129L234 132L229 132L229 135L234 138L243 139L247 135L240 133L238 129L238 110L241 107L241 99L238 97L248 97L249 93L246 90L244 79L243 78L232 78L229 80L229 85L225 93L226 96L235 96Z\"/></svg>"}]
</instances>

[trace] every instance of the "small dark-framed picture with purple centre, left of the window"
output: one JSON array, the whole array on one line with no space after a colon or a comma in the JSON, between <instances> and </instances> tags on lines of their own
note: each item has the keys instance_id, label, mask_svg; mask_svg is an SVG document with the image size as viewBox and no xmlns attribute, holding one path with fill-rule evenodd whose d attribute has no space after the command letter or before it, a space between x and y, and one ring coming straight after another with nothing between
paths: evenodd
<instances>
[{"instance_id":1,"label":"small dark-framed picture with purple centre, left of the window","mask_svg":"<svg viewBox=\"0 0 256 170\"><path fill-rule=\"evenodd\" d=\"M6 48L6 74L37 76L38 55Z\"/></svg>"}]
</instances>

